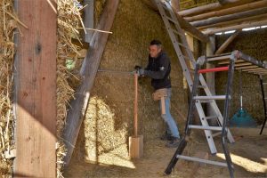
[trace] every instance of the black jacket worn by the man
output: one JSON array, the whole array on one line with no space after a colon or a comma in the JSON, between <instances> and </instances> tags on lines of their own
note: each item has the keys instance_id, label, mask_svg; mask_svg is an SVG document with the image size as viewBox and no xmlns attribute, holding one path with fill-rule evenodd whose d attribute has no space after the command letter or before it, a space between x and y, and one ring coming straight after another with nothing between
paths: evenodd
<instances>
[{"instance_id":1,"label":"black jacket worn by the man","mask_svg":"<svg viewBox=\"0 0 267 178\"><path fill-rule=\"evenodd\" d=\"M144 75L151 77L151 85L155 90L161 88L171 88L171 62L165 52L158 53L157 58L149 56L149 64L144 71Z\"/></svg>"}]
</instances>

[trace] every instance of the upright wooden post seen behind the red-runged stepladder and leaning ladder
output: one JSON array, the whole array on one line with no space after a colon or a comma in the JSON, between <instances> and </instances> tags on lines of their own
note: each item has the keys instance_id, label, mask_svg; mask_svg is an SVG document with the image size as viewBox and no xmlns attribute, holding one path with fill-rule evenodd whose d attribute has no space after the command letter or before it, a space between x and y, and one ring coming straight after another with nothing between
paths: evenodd
<instances>
[{"instance_id":1,"label":"upright wooden post seen behind the red-runged stepladder and leaning ladder","mask_svg":"<svg viewBox=\"0 0 267 178\"><path fill-rule=\"evenodd\" d=\"M209 42L206 44L206 56L214 55L215 51L215 36L209 36ZM206 64L206 69L214 68L214 64ZM206 85L208 86L210 92L215 94L215 74L214 72L206 73ZM210 106L210 103L206 105L207 116L214 116L214 110ZM216 125L216 120L212 119L210 125Z\"/></svg>"}]
</instances>

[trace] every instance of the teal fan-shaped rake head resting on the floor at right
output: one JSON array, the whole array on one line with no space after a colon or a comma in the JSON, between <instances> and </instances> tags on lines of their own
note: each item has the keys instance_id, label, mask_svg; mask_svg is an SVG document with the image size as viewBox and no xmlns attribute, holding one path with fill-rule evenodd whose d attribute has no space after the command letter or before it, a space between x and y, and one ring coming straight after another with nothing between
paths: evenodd
<instances>
[{"instance_id":1,"label":"teal fan-shaped rake head resting on the floor at right","mask_svg":"<svg viewBox=\"0 0 267 178\"><path fill-rule=\"evenodd\" d=\"M251 117L245 109L240 108L238 112L231 117L230 126L237 127L256 127L255 119Z\"/></svg>"}]
</instances>

